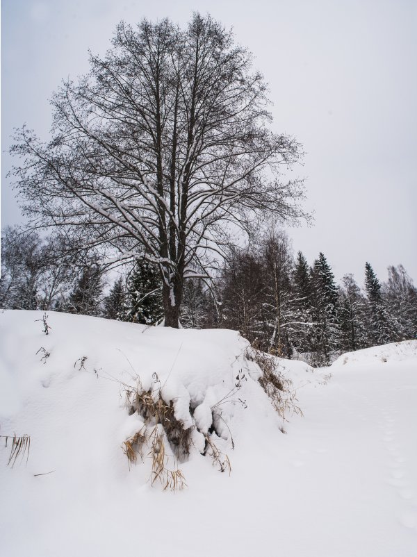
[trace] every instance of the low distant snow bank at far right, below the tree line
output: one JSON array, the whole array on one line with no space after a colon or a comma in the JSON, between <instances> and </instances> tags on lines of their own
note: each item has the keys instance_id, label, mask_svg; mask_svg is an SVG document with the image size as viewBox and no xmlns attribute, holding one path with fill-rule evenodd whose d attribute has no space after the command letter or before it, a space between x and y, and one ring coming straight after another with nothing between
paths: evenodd
<instances>
[{"instance_id":1,"label":"low distant snow bank at far right, below the tree line","mask_svg":"<svg viewBox=\"0 0 417 557\"><path fill-rule=\"evenodd\" d=\"M346 352L337 358L332 368L352 365L379 365L379 363L401 362L417 358L417 340L404 340L391 342L382 346L375 346Z\"/></svg>"}]
</instances>

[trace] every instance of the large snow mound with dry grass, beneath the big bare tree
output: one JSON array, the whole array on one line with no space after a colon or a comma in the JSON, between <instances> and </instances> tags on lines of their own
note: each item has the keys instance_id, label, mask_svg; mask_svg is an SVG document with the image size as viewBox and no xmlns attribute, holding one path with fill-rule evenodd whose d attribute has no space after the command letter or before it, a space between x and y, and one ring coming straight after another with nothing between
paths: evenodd
<instances>
[{"instance_id":1,"label":"large snow mound with dry grass, beneath the big bare tree","mask_svg":"<svg viewBox=\"0 0 417 557\"><path fill-rule=\"evenodd\" d=\"M229 454L253 444L251 431L279 442L291 396L268 399L263 372L236 331L49 312L45 334L42 317L0 315L0 435L30 435L27 477L53 470L86 485L99 469L101 485L131 467L141 485L158 479L177 488L167 474L200 466L202 455L230 471ZM285 361L277 367L286 386L291 369L297 384L311 374L306 364Z\"/></svg>"}]
</instances>

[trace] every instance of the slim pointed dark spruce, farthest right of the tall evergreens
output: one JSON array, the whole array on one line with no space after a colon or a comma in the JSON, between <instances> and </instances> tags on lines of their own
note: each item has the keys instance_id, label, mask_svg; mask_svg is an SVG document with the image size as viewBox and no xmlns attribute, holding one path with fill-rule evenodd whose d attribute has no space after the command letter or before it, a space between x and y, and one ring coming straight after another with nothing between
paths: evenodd
<instances>
[{"instance_id":1,"label":"slim pointed dark spruce, farthest right of the tall evergreens","mask_svg":"<svg viewBox=\"0 0 417 557\"><path fill-rule=\"evenodd\" d=\"M386 344L394 340L390 327L389 316L386 313L382 299L381 285L370 266L365 264L365 290L368 297L368 332L371 344Z\"/></svg>"}]
</instances>

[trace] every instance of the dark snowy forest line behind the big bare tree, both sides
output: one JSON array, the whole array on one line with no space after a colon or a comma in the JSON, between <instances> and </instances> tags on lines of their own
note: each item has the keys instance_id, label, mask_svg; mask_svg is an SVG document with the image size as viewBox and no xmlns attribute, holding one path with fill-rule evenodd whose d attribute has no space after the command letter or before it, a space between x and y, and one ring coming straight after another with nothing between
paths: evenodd
<instances>
[{"instance_id":1,"label":"dark snowy forest line behind the big bare tree, both sides","mask_svg":"<svg viewBox=\"0 0 417 557\"><path fill-rule=\"evenodd\" d=\"M145 258L99 265L97 253L68 254L67 239L6 228L1 239L2 308L56 310L147 325L165 317L158 265ZM64 254L64 255L63 255ZM229 247L212 281L183 286L180 324L236 329L264 351L329 363L341 351L417 337L417 289L402 265L380 283L370 263L364 288L352 274L336 285L325 255L309 265L282 231Z\"/></svg>"}]
</instances>

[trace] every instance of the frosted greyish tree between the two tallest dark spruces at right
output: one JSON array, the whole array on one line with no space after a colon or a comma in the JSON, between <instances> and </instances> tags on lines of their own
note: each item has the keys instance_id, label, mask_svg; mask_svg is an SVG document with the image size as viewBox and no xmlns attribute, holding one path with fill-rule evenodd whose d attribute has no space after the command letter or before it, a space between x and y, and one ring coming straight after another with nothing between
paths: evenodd
<instances>
[{"instance_id":1,"label":"frosted greyish tree between the two tallest dark spruces at right","mask_svg":"<svg viewBox=\"0 0 417 557\"><path fill-rule=\"evenodd\" d=\"M366 299L354 281L346 274L339 290L339 315L341 319L341 349L358 350L368 346L366 331Z\"/></svg>"}]
</instances>

